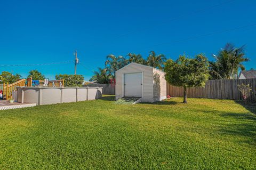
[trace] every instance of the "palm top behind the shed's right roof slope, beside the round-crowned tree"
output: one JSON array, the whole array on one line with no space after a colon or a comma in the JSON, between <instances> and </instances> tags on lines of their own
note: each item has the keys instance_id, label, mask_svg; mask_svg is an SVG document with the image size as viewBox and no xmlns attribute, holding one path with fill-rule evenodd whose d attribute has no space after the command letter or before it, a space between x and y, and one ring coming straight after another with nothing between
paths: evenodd
<instances>
[{"instance_id":1,"label":"palm top behind the shed's right roof slope, beside the round-crowned tree","mask_svg":"<svg viewBox=\"0 0 256 170\"><path fill-rule=\"evenodd\" d=\"M166 58L164 54L156 55L154 51L150 51L149 56L147 58L147 65L151 67L159 68L162 70L164 67L165 61L166 61Z\"/></svg>"}]
</instances>

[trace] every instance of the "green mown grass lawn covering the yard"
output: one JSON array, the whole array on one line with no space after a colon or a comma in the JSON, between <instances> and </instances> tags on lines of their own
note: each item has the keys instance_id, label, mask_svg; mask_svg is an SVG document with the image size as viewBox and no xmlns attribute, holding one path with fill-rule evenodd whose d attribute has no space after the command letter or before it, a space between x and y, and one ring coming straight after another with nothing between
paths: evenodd
<instances>
[{"instance_id":1,"label":"green mown grass lawn covering the yard","mask_svg":"<svg viewBox=\"0 0 256 170\"><path fill-rule=\"evenodd\" d=\"M0 111L0 169L255 169L256 107L181 98Z\"/></svg>"}]
</instances>

